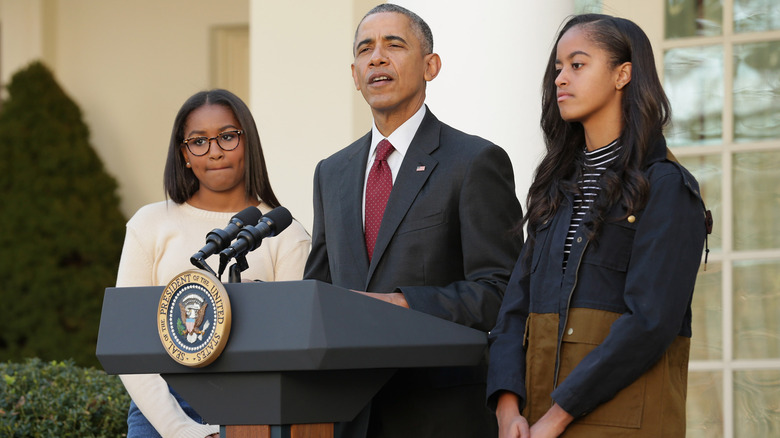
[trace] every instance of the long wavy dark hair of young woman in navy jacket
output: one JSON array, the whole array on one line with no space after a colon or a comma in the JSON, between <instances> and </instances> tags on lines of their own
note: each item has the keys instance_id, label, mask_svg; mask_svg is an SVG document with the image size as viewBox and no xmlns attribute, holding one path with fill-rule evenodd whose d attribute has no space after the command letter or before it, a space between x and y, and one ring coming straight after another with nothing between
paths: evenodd
<instances>
[{"instance_id":1,"label":"long wavy dark hair of young woman in navy jacket","mask_svg":"<svg viewBox=\"0 0 780 438\"><path fill-rule=\"evenodd\" d=\"M585 132L579 122L561 118L557 102L555 60L558 42L575 26L580 26L591 42L606 51L611 67L632 65L631 81L623 88L621 102L623 129L618 139L617 159L602 176L602 193L596 200L589 224L589 238L596 238L608 209L620 202L628 214L644 208L649 183L642 174L655 140L671 116L669 100L655 68L653 49L647 35L633 22L601 14L576 15L558 33L542 82L542 117L547 153L536 169L528 191L529 243L537 227L552 217L564 193L576 192L577 177L584 160Z\"/></svg>"}]
</instances>

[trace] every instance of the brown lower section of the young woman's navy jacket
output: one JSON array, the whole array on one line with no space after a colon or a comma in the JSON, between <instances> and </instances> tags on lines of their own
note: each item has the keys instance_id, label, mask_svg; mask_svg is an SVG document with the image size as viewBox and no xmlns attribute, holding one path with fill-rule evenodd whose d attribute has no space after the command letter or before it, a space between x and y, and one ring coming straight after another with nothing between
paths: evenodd
<instances>
[{"instance_id":1,"label":"brown lower section of the young woman's navy jacket","mask_svg":"<svg viewBox=\"0 0 780 438\"><path fill-rule=\"evenodd\" d=\"M620 314L570 309L561 342L558 383L609 334ZM531 314L526 327L528 402L523 414L533 424L552 405L558 315ZM661 359L636 381L587 415L562 437L684 437L690 338L678 336Z\"/></svg>"}]
</instances>

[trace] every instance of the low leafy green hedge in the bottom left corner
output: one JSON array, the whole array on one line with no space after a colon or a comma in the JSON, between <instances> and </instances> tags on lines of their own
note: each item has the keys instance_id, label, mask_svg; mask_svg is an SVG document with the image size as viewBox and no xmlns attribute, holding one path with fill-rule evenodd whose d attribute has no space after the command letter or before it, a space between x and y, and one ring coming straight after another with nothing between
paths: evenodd
<instances>
[{"instance_id":1,"label":"low leafy green hedge in the bottom left corner","mask_svg":"<svg viewBox=\"0 0 780 438\"><path fill-rule=\"evenodd\" d=\"M129 405L118 376L71 360L0 363L2 437L123 437Z\"/></svg>"}]
</instances>

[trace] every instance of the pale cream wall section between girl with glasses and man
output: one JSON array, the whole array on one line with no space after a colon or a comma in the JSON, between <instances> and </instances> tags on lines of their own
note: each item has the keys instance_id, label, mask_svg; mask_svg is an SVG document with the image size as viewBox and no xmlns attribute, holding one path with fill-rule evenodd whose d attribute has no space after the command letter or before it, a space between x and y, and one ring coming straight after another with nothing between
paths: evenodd
<instances>
[{"instance_id":1,"label":"pale cream wall section between girl with glasses and man","mask_svg":"<svg viewBox=\"0 0 780 438\"><path fill-rule=\"evenodd\" d=\"M280 202L310 231L317 162L354 140L355 125L370 127L349 67L361 3L251 3L251 106L268 173Z\"/></svg>"}]
</instances>

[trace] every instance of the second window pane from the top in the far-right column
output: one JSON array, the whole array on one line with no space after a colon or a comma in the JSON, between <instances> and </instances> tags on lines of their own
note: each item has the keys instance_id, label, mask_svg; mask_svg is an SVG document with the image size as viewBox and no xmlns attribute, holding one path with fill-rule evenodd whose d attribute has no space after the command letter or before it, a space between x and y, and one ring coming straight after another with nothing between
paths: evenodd
<instances>
[{"instance_id":1,"label":"second window pane from the top in the far-right column","mask_svg":"<svg viewBox=\"0 0 780 438\"><path fill-rule=\"evenodd\" d=\"M734 46L734 139L780 139L780 41Z\"/></svg>"}]
</instances>

